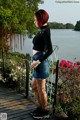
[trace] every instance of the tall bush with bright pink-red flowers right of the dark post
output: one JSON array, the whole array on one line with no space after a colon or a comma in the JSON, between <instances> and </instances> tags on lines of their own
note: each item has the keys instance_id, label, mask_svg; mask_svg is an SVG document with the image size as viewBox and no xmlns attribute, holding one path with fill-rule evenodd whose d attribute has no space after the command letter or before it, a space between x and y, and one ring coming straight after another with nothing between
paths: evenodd
<instances>
[{"instance_id":1,"label":"tall bush with bright pink-red flowers right of the dark post","mask_svg":"<svg viewBox=\"0 0 80 120\"><path fill-rule=\"evenodd\" d=\"M80 62L61 60L58 82L58 97L63 109L80 114Z\"/></svg>"}]
</instances>

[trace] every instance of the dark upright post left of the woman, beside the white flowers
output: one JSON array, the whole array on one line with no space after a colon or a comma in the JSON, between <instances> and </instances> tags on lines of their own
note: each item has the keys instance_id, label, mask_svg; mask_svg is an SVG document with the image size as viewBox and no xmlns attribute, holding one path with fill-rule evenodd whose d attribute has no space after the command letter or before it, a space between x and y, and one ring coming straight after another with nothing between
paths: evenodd
<instances>
[{"instance_id":1,"label":"dark upright post left of the woman, beside the white flowers","mask_svg":"<svg viewBox=\"0 0 80 120\"><path fill-rule=\"evenodd\" d=\"M30 55L26 54L26 97L29 97L29 61L30 61Z\"/></svg>"}]
</instances>

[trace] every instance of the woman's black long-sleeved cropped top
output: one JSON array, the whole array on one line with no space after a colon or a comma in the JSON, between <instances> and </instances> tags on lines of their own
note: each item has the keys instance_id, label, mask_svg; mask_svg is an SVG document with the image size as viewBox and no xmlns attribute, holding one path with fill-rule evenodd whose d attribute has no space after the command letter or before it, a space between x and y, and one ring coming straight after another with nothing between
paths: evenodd
<instances>
[{"instance_id":1,"label":"woman's black long-sleeved cropped top","mask_svg":"<svg viewBox=\"0 0 80 120\"><path fill-rule=\"evenodd\" d=\"M45 52L45 54L39 58L40 62L45 60L53 52L50 28L48 25L42 26L33 38L33 49L40 52Z\"/></svg>"}]
</instances>

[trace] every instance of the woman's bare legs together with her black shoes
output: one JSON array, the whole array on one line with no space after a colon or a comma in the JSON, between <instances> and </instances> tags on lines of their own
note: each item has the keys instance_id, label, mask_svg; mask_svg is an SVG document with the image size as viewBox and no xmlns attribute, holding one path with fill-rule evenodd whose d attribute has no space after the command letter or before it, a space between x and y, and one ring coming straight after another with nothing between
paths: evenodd
<instances>
[{"instance_id":1,"label":"woman's bare legs together with her black shoes","mask_svg":"<svg viewBox=\"0 0 80 120\"><path fill-rule=\"evenodd\" d=\"M34 118L49 118L49 112L47 110L47 93L46 93L46 79L43 80L32 80L33 89L38 98L39 108L33 113Z\"/></svg>"}]
</instances>

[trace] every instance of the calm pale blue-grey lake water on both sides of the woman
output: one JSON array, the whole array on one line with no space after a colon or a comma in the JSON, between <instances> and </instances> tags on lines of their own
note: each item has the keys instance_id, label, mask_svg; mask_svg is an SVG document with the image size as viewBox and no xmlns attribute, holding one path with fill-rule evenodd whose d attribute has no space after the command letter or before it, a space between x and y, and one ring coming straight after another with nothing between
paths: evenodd
<instances>
[{"instance_id":1,"label":"calm pale blue-grey lake water on both sides of the woman","mask_svg":"<svg viewBox=\"0 0 80 120\"><path fill-rule=\"evenodd\" d=\"M54 29L51 30L51 40L53 45L59 47L58 59L74 61L76 58L76 60L80 60L80 32L72 29ZM32 38L28 38L27 35L16 35L14 41L11 47L12 51L32 55Z\"/></svg>"}]
</instances>

